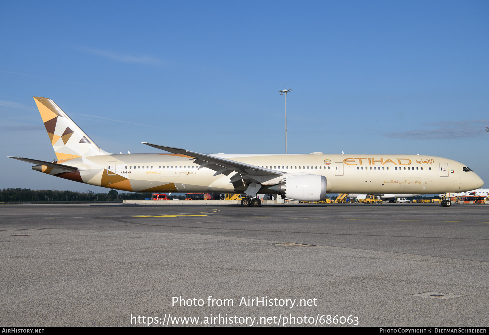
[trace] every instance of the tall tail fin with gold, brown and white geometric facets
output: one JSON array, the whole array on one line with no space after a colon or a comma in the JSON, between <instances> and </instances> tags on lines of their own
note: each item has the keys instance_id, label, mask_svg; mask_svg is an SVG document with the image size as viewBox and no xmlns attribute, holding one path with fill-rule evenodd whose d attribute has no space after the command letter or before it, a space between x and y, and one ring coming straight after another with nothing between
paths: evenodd
<instances>
[{"instance_id":1,"label":"tall tail fin with gold, brown and white geometric facets","mask_svg":"<svg viewBox=\"0 0 489 335\"><path fill-rule=\"evenodd\" d=\"M34 96L34 101L41 113L58 161L108 154L100 149L53 100Z\"/></svg>"}]
</instances>

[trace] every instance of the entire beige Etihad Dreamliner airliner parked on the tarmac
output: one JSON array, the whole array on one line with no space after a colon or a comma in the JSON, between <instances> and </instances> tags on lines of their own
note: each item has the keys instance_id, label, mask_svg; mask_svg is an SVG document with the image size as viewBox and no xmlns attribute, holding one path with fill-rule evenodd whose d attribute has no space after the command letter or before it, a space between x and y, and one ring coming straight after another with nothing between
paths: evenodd
<instances>
[{"instance_id":1,"label":"entire beige Etihad Dreamliner airliner parked on the tarmac","mask_svg":"<svg viewBox=\"0 0 489 335\"><path fill-rule=\"evenodd\" d=\"M480 188L464 164L424 155L201 154L150 144L170 153L112 154L99 148L51 99L34 97L57 160L11 157L33 170L80 183L131 192L243 193L242 206L258 207L257 194L319 201L327 193L438 194ZM454 195L453 195L454 196Z\"/></svg>"}]
</instances>

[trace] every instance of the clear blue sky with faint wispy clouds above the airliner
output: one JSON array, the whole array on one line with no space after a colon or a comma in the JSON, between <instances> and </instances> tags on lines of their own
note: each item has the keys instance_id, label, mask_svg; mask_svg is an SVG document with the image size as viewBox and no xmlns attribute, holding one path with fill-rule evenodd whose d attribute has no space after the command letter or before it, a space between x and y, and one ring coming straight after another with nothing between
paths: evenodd
<instances>
[{"instance_id":1,"label":"clear blue sky with faint wispy clouds above the airliner","mask_svg":"<svg viewBox=\"0 0 489 335\"><path fill-rule=\"evenodd\" d=\"M16 2L0 11L0 188L104 191L55 158L32 96L109 152L428 154L489 183L489 2ZM105 190L107 191L107 190Z\"/></svg>"}]
</instances>

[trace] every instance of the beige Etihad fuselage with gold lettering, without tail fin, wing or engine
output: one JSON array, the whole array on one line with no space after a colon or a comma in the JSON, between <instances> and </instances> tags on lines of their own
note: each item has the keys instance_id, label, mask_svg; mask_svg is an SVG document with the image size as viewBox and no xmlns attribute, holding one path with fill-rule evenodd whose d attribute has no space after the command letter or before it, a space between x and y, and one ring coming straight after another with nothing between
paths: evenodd
<instances>
[{"instance_id":1,"label":"beige Etihad fuselage with gold lettering, without tail fin, wing or engine","mask_svg":"<svg viewBox=\"0 0 489 335\"><path fill-rule=\"evenodd\" d=\"M249 165L290 174L327 178L330 193L436 194L477 189L482 179L464 164L436 156L378 154L213 154ZM180 154L111 154L58 161L82 171L43 167L62 178L133 192L240 192L230 184L233 174L217 175Z\"/></svg>"}]
</instances>

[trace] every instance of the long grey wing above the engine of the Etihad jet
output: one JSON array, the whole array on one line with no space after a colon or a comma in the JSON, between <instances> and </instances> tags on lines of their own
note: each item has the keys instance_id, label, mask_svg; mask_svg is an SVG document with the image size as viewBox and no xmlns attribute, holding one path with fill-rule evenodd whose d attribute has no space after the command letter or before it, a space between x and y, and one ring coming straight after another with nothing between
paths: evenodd
<instances>
[{"instance_id":1,"label":"long grey wing above the engine of the Etihad jet","mask_svg":"<svg viewBox=\"0 0 489 335\"><path fill-rule=\"evenodd\" d=\"M233 171L236 171L241 175L239 179L242 178L247 179L246 177L249 177L249 179L261 183L263 181L270 180L283 175L282 172L277 170L261 168L246 163L232 161L230 159L201 154L198 152L188 151L180 148L174 148L172 146L163 146L163 145L151 144L147 142L141 142L141 143L171 153L179 153L182 155L189 156L191 158L195 158L196 160L194 161L194 163L199 164L200 165L199 168L210 168L216 171L216 173L214 173L215 176L217 176L218 174L224 174L227 176ZM231 182L239 179L235 179L235 176L233 176L231 178Z\"/></svg>"}]
</instances>

